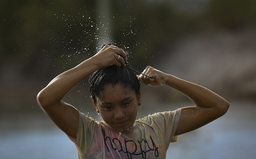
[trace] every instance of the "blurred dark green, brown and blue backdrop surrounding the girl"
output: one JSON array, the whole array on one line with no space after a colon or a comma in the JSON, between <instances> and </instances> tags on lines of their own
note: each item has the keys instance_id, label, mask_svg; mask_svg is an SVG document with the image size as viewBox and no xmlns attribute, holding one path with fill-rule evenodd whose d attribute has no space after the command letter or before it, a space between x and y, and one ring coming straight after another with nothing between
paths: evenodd
<instances>
[{"instance_id":1,"label":"blurred dark green, brown and blue backdrop surrounding the girl","mask_svg":"<svg viewBox=\"0 0 256 159\"><path fill-rule=\"evenodd\" d=\"M37 93L104 43L202 85L230 102L227 114L171 143L167 158L255 158L255 0L1 0L0 158L78 158L43 113ZM169 87L141 86L138 118L194 104ZM101 120L88 79L63 99Z\"/></svg>"}]
</instances>

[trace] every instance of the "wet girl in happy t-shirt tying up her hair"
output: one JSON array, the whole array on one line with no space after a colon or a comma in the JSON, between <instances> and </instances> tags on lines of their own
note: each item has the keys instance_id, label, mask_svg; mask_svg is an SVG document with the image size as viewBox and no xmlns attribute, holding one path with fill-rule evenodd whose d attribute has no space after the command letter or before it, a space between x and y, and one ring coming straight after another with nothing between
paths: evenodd
<instances>
[{"instance_id":1,"label":"wet girl in happy t-shirt tying up her hair","mask_svg":"<svg viewBox=\"0 0 256 159\"><path fill-rule=\"evenodd\" d=\"M55 77L37 95L44 113L68 135L79 158L165 158L177 135L224 115L229 103L212 91L148 66L135 75L124 50L105 45L96 55ZM90 76L93 105L103 121L94 121L61 99ZM149 78L151 77L151 78ZM140 82L170 86L196 106L155 113L137 121Z\"/></svg>"}]
</instances>

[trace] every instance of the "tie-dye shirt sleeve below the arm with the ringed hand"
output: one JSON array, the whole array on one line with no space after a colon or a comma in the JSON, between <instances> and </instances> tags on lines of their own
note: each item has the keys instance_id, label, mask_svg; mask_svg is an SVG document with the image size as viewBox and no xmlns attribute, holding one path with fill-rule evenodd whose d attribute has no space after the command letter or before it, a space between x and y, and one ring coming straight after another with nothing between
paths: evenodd
<instances>
[{"instance_id":1,"label":"tie-dye shirt sleeve below the arm with the ringed hand","mask_svg":"<svg viewBox=\"0 0 256 159\"><path fill-rule=\"evenodd\" d=\"M76 132L76 142L83 154L89 150L92 144L95 125L96 123L91 117L79 112L79 124Z\"/></svg>"}]
</instances>

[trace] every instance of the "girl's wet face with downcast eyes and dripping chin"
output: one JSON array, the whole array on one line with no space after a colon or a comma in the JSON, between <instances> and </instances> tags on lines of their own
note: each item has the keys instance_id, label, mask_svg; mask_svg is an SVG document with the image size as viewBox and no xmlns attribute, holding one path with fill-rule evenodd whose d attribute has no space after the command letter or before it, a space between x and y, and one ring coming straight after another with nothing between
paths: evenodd
<instances>
[{"instance_id":1,"label":"girl's wet face with downcast eyes and dripping chin","mask_svg":"<svg viewBox=\"0 0 256 159\"><path fill-rule=\"evenodd\" d=\"M92 100L96 111L99 110L103 120L119 132L131 128L138 113L141 95L121 84L106 85L97 103Z\"/></svg>"}]
</instances>

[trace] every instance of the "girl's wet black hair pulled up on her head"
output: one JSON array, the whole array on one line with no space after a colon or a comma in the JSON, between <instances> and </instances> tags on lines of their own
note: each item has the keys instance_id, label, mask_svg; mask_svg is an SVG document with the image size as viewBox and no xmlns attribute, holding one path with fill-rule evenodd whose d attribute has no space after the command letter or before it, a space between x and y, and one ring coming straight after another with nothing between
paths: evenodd
<instances>
[{"instance_id":1,"label":"girl's wet black hair pulled up on her head","mask_svg":"<svg viewBox=\"0 0 256 159\"><path fill-rule=\"evenodd\" d=\"M111 45L111 44L108 44ZM102 46L102 48L105 45ZM124 58L123 58L124 59ZM118 67L111 65L102 70L97 70L90 75L89 89L92 94L93 101L97 102L106 85L115 86L121 84L125 88L135 91L136 95L140 94L140 82L136 74L131 70L131 65L124 59L126 66Z\"/></svg>"}]
</instances>

